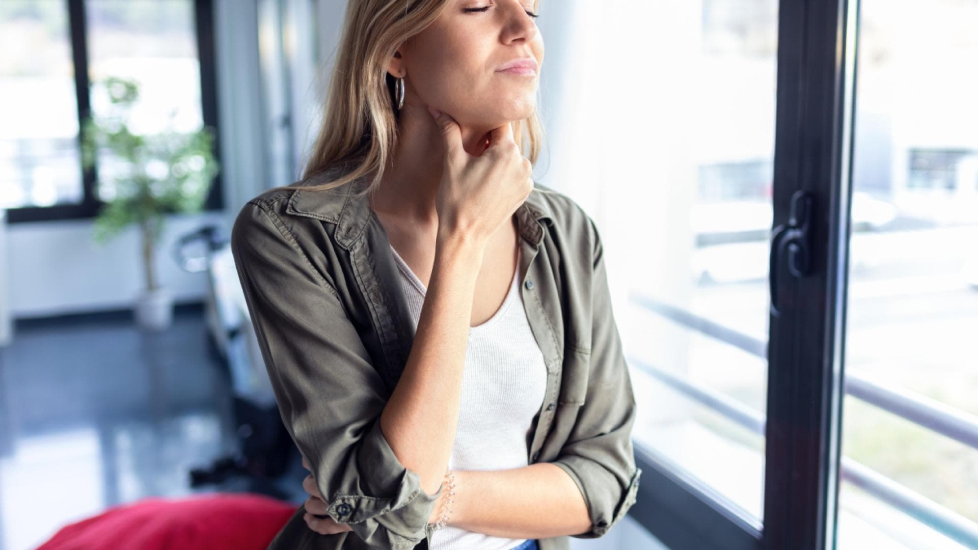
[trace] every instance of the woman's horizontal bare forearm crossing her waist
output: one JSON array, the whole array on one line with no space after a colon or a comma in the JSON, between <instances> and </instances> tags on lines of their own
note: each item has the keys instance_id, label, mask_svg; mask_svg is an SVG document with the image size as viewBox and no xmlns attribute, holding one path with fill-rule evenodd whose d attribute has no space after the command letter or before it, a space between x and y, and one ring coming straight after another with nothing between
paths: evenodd
<instances>
[{"instance_id":1,"label":"woman's horizontal bare forearm crossing her waist","mask_svg":"<svg viewBox=\"0 0 978 550\"><path fill-rule=\"evenodd\" d=\"M546 538L585 532L591 519L581 489L547 462L511 470L455 473L449 525L492 536Z\"/></svg>"}]
</instances>

